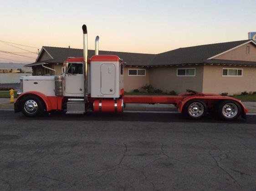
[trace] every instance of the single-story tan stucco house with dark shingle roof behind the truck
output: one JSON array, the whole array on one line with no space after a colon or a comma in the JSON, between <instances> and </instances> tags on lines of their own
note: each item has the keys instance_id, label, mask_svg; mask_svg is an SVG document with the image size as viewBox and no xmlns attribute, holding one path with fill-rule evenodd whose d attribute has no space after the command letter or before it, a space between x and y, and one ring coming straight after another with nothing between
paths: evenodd
<instances>
[{"instance_id":1,"label":"single-story tan stucco house with dark shingle roof behind the truck","mask_svg":"<svg viewBox=\"0 0 256 191\"><path fill-rule=\"evenodd\" d=\"M88 57L94 54L89 50ZM253 40L217 43L179 48L160 54L138 54L99 51L99 54L118 55L126 62L124 89L132 91L151 84L164 92L186 89L230 95L256 91L256 43ZM54 75L50 67L62 72L67 57L82 57L82 49L43 46L32 66L33 75Z\"/></svg>"}]
</instances>

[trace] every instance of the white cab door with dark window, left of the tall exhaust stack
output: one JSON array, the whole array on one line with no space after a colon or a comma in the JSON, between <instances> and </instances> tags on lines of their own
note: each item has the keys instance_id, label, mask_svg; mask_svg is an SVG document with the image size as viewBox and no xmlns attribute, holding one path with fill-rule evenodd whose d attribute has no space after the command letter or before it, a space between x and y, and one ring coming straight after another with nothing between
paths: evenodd
<instances>
[{"instance_id":1,"label":"white cab door with dark window, left of the tall exhaust stack","mask_svg":"<svg viewBox=\"0 0 256 191\"><path fill-rule=\"evenodd\" d=\"M67 71L65 74L65 92L73 96L83 96L83 78L83 64L68 63Z\"/></svg>"}]
</instances>

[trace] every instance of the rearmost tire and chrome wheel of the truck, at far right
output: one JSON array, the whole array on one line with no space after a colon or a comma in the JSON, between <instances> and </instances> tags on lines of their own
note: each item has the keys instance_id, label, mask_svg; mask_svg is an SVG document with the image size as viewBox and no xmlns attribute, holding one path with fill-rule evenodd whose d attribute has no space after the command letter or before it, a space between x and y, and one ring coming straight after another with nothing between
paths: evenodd
<instances>
[{"instance_id":1,"label":"rearmost tire and chrome wheel of the truck, at far right","mask_svg":"<svg viewBox=\"0 0 256 191\"><path fill-rule=\"evenodd\" d=\"M241 115L240 104L233 100L221 101L217 108L217 116L222 120L232 121Z\"/></svg>"}]
</instances>

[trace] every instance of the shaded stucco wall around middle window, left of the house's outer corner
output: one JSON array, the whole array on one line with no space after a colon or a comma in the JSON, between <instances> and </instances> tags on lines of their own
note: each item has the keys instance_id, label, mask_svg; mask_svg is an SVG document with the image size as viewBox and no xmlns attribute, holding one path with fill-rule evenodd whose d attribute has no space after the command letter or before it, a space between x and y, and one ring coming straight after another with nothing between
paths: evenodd
<instances>
[{"instance_id":1,"label":"shaded stucco wall around middle window, left of the house's outer corner","mask_svg":"<svg viewBox=\"0 0 256 191\"><path fill-rule=\"evenodd\" d=\"M195 76L177 76L178 68L195 68ZM203 88L202 65L154 67L149 72L150 84L164 92L174 90L180 94L186 89L201 92Z\"/></svg>"}]
</instances>

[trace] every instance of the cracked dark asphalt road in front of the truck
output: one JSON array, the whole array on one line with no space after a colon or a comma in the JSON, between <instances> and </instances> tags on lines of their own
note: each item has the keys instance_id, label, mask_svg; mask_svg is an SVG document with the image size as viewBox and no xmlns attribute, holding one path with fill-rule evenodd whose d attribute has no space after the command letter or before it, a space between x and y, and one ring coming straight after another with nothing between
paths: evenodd
<instances>
[{"instance_id":1,"label":"cracked dark asphalt road in front of the truck","mask_svg":"<svg viewBox=\"0 0 256 191\"><path fill-rule=\"evenodd\" d=\"M256 116L0 111L0 190L256 190Z\"/></svg>"}]
</instances>

